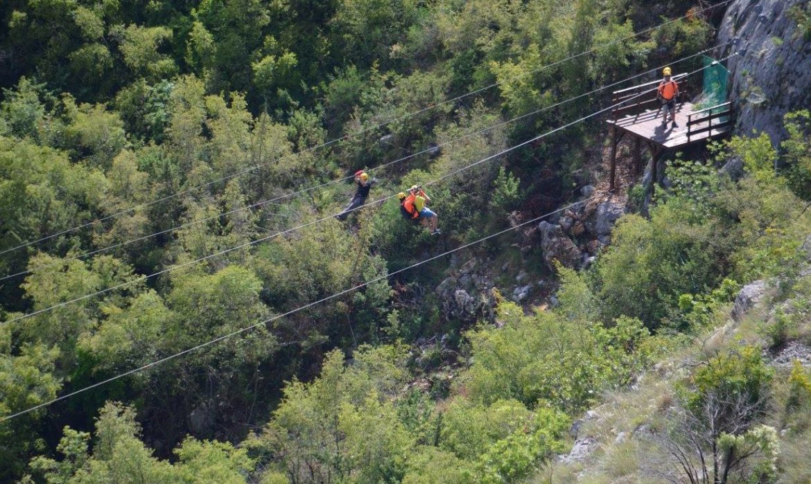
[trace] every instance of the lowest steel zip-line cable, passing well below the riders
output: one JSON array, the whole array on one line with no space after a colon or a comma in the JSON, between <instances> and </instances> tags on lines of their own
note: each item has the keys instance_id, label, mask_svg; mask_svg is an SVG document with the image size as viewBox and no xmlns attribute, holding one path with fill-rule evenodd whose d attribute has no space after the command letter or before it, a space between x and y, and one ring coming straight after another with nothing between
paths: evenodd
<instances>
[{"instance_id":1,"label":"lowest steel zip-line cable, passing well below the riders","mask_svg":"<svg viewBox=\"0 0 811 484\"><path fill-rule=\"evenodd\" d=\"M597 199L598 196L599 195L595 195L594 197L591 197L590 199L586 199L585 201L589 202L592 199ZM11 415L7 415L6 417L0 418L0 423L6 422L8 420L11 420L12 418L16 418L16 417L19 417L21 415L24 415L25 413L33 412L36 409L41 409L41 408L46 407L48 405L54 404L54 403L56 403L56 402L58 402L60 400L65 400L67 398L70 398L71 396L78 395L79 393L87 392L88 390L92 390L93 388L101 387L102 385L105 385L106 383L110 383L110 382L112 382L114 380L117 380L117 379L122 379L125 376L133 375L135 373L138 373L139 371L147 370L148 368L151 368L152 366L160 365L163 362L168 362L169 360L172 360L174 358L178 358L178 357L180 357L180 356L182 356L184 354L192 353L192 352L194 352L194 351L196 351L198 349L202 349L202 348L205 348L206 346L213 345L213 344L215 344L215 343L217 343L219 341L223 341L223 340L228 339L228 338L230 338L232 336L237 336L238 334L242 334L243 332L247 332L247 331L250 331L251 329L258 328L263 324L272 323L273 321L276 321L277 319L285 318L286 316L293 315L293 314L295 314L295 313L297 313L299 311L304 311L304 310L306 310L306 309L308 309L308 308L310 308L312 306L319 305L322 302L327 302L327 301L329 301L331 299L339 298L339 297L343 296L346 293L351 293L351 292L353 292L355 290L366 287L367 285L374 284L375 282L384 281L385 279L388 279L391 276L395 276L395 275L397 275L397 274L399 274L401 272L405 272L405 271L409 271L410 269L417 268L417 267L423 265L424 263L429 263L429 262L431 262L433 260L440 259L440 258L442 258L442 257L444 257L446 255L453 254L453 252L461 251L462 249L466 249L467 247L474 246L474 245L476 245L478 243L484 242L487 239L498 237L501 234L511 232L511 231L513 231L515 229L518 229L518 228L520 228L520 227L522 227L524 225L529 225L529 224L532 224L534 222L540 221L544 217L553 215L553 214L555 214L557 212L562 212L562 211L566 210L567 208L571 208L574 205L577 205L578 203L582 203L583 201L584 200L581 200L581 201L575 202L575 203L570 203L569 205L567 205L565 207L558 208L557 210L554 210L554 211L549 212L549 213L545 213L542 216L537 216L537 217L535 217L534 219L532 219L530 221L521 222L521 224L510 227L509 229L504 229L504 230L501 230L500 232L491 233L490 235L487 235L486 237L475 240L474 242L466 243L464 246L458 246L455 249L451 249L450 251L445 251L440 255L434 255L433 257L429 257L428 259L421 260L418 263L411 264L408 267L397 269L397 271L385 274L384 276L377 276L377 277L375 277L375 278L373 278L373 279L371 279L369 281L366 281L366 282L363 282L361 284L350 287L350 289L344 289L341 292L333 293L332 295L327 296L326 298L319 299L318 301L308 302L304 306L299 306L299 307L297 307L297 308L295 308L293 310L285 312L284 314L273 316L272 318L265 319L264 321L260 321L259 323L251 324L251 326L247 326L245 328L240 328L240 329L238 329L238 330L236 330L234 332L230 332L230 333L222 335L222 336L217 336L217 338L214 338L213 340L210 340L210 341L206 341L205 343L201 343L200 345L192 346L191 348L184 349L184 350L182 350L182 351L180 351L178 353L173 353L173 354L170 354L169 356L166 356L166 357L161 358L159 360L156 360L154 362L147 363L144 366L139 366L138 368L135 368L133 370L129 370L129 371L126 371L124 373L112 376L112 377L110 377L108 379L102 380L101 382L93 383L92 385L88 385L87 387L79 388L79 390L75 390L74 392L70 392L70 393L67 393L65 395L58 396L58 397L56 397L56 398L54 398L52 400L48 400L48 401L43 402L43 403L41 403L39 405L32 406L32 407L30 407L28 409L21 410L21 411L19 411L17 413L12 413Z\"/></svg>"}]
</instances>

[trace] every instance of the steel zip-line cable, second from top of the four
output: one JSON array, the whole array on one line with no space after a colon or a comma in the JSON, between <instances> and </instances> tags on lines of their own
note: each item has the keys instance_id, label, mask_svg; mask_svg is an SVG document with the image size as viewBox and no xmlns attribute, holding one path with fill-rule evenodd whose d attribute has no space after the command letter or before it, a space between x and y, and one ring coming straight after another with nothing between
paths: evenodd
<instances>
[{"instance_id":1,"label":"steel zip-line cable, second from top of the four","mask_svg":"<svg viewBox=\"0 0 811 484\"><path fill-rule=\"evenodd\" d=\"M642 77L643 75L648 75L648 74L650 74L652 72L659 71L659 69L663 68L664 66L675 66L676 64L679 64L680 62L688 61L691 58L695 58L695 57L697 57L699 55L706 54L710 50L718 49L720 47L726 47L727 45L730 45L730 44L732 44L732 42L727 42L726 44L723 44L723 45L716 45L714 47L710 47L709 49L704 49L701 52L697 52L695 54L691 54L691 55L686 56L684 58L677 59L676 61L669 62L667 64L663 64L662 66L657 66L657 67L651 68L651 69L649 69L647 71L644 71L644 72L642 72L640 74L632 75L629 78L622 79L620 81L616 81L616 82L611 83L611 84L606 84L606 85L604 85L604 86L602 86L600 88L595 88L595 89L591 90L590 92L584 92L584 93L582 93L582 94L580 94L578 96L570 97L569 99L567 99L565 101L560 101L560 102L557 102L556 104L548 105L548 106L545 106L545 107L543 107L541 109L535 109L534 111L532 111L530 113L521 114L521 116L518 116L517 118L512 118L512 119L510 119L508 121L498 122L498 123L496 123L494 125L487 126L486 128L483 128L481 130L478 130L478 131L471 132L471 133L468 133L466 135L460 136L459 138L454 138L454 139L450 139L448 141L444 141L443 143L439 143L436 146L433 146L431 148L426 148L426 149L423 149L422 151L414 152L414 153L412 153L412 154L410 154L408 156L403 156L401 158L397 158L397 160L388 161L387 163L384 163L383 165L375 166L375 167L373 167L371 169L368 169L367 171L372 172L372 171L375 171L375 170L384 169L384 168L386 168L388 166L395 165L395 164L400 163L400 162L405 161L405 160L409 160L410 158L414 158L415 156L420 156L420 155L423 155L423 154L425 154L427 152L431 152L431 150L433 150L433 149L442 148L444 146L447 146L448 144L457 143L458 141L461 141L463 139L471 138L471 137L473 137L475 135L481 135L481 134L483 134L483 133L485 133L487 131L495 130L498 127L505 126L505 125L508 125L508 124L510 124L512 122L517 122L517 121L520 121L521 119L528 118L528 117L533 116L535 114L543 113L544 111L547 111L549 109L554 109L554 108L556 108L556 107L558 107L560 105L564 105L564 104L567 104L569 102L576 101L577 99L580 99L581 97L591 96L592 94L604 91L604 90L606 90L608 88L616 87L616 86L618 86L620 84L627 83L630 80L637 79L639 77ZM140 236L138 238L133 238L133 239L130 239L130 240L127 240L127 241L124 241L124 242L118 242L118 243L116 243L116 244L114 244L112 246L106 246L106 247L103 247L101 249L96 249L96 250L93 250L93 251L87 251L87 252L84 252L84 253L79 254L79 255L72 255L71 257L62 258L62 259L59 259L59 261L56 262L56 263L45 264L44 267L46 267L46 268L47 267L57 267L60 264L71 262L72 260L84 259L85 257L89 257L91 255L101 254L102 252L111 251L113 249L117 249L118 247L127 246L127 245L129 245L131 243L140 242L140 241L143 241L143 240L147 240L149 238L157 237L158 235L163 235L165 233L172 233L172 232L174 232L176 230L185 229L185 228L191 227L193 225L203 224L203 223L208 222L208 221L216 220L216 219L218 219L218 218L220 218L222 216L229 216L229 215L232 215L234 213L250 210L251 208L258 208L258 207L261 207L263 205L267 205L268 203L274 203L274 202L277 202L277 201L282 200L282 199L289 199L289 198L292 198L292 197L294 197L296 195L301 195L301 194L304 194L304 193L307 193L307 192L310 192L310 191L317 190L319 188L324 188L325 186L330 186L330 185L333 185L333 184L339 183L339 182L345 182L346 180L349 180L350 178L353 178L353 177L354 177L354 175L350 175L348 177L343 177L343 178L337 178L337 179L334 179L334 180L330 180L329 182L323 182L323 183L320 183L318 185L310 186L310 187L308 187L306 189L303 189L303 190L294 191L292 193L285 194L285 195L280 195L280 196L277 196L276 198L273 198L273 199L260 200L259 202L251 203L251 204L246 205L244 207L234 208L234 209L232 209L232 210L230 210L228 212L221 212L221 213L218 213L217 215L207 216L207 217L204 217L204 218L202 218L200 220L187 222L185 224L177 225L175 227L172 227L170 229L164 229L164 230L161 230L159 232L150 233L148 235L142 235L142 236ZM37 269L39 269L41 267L43 267L43 266L40 266ZM12 277L24 276L26 274L30 274L31 272L32 272L31 269L26 269L24 271L15 272L13 274L9 274L7 276L0 277L0 281L6 281L7 279L11 279Z\"/></svg>"}]
</instances>

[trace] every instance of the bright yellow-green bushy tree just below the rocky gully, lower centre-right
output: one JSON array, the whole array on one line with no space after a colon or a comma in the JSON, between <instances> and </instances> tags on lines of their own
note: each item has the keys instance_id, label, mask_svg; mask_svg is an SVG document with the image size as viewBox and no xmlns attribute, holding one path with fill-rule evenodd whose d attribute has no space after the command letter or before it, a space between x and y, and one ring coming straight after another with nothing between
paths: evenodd
<instances>
[{"instance_id":1,"label":"bright yellow-green bushy tree just below the rocky gully, lower centre-right","mask_svg":"<svg viewBox=\"0 0 811 484\"><path fill-rule=\"evenodd\" d=\"M525 405L539 400L576 412L590 404L600 388L629 382L646 364L646 331L633 319L613 328L561 313L524 316L503 303L499 330L470 332L474 364L462 381L474 401L515 398ZM640 352L637 354L637 351Z\"/></svg>"}]
</instances>

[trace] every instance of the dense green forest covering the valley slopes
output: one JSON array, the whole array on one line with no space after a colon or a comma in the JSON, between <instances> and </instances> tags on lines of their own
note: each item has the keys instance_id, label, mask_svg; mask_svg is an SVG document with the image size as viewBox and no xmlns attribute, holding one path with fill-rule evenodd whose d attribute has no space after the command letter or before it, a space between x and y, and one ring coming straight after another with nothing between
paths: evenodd
<instances>
[{"instance_id":1,"label":"dense green forest covering the valley slopes","mask_svg":"<svg viewBox=\"0 0 811 484\"><path fill-rule=\"evenodd\" d=\"M3 2L0 481L552 482L577 418L755 280L779 317L704 354L672 406L695 429L746 400L713 456L734 482L809 478L811 375L762 356L811 339L808 111L778 146L675 156L652 199L624 186L588 269L512 232L401 272L597 184L599 118L494 155L708 49L727 2L649 3ZM732 159L742 176L719 175ZM369 202L334 220L357 169ZM401 217L413 184L442 235ZM463 264L494 286L464 314L439 289ZM547 289L509 298L519 272Z\"/></svg>"}]
</instances>

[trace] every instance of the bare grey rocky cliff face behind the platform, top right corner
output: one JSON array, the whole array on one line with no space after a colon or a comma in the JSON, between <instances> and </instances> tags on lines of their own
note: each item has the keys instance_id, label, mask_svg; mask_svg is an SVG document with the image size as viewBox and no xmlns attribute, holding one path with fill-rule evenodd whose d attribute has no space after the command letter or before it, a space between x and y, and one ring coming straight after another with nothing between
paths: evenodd
<instances>
[{"instance_id":1,"label":"bare grey rocky cliff face behind the platform, top right corner","mask_svg":"<svg viewBox=\"0 0 811 484\"><path fill-rule=\"evenodd\" d=\"M765 131L783 139L783 115L811 104L811 41L797 28L792 9L807 0L736 0L727 8L719 45L742 54L727 61L737 132Z\"/></svg>"}]
</instances>

